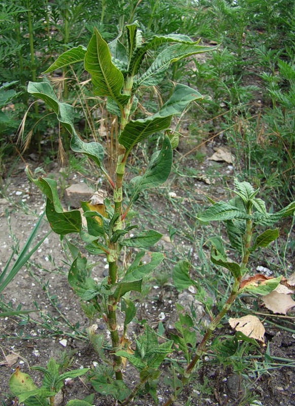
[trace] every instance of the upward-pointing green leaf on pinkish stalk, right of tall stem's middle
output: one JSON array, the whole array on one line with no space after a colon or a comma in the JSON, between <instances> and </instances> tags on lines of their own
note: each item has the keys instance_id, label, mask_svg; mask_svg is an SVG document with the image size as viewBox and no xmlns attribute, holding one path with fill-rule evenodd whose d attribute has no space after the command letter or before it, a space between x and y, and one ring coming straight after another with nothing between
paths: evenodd
<instances>
[{"instance_id":1,"label":"upward-pointing green leaf on pinkish stalk, right of tall stem's middle","mask_svg":"<svg viewBox=\"0 0 295 406\"><path fill-rule=\"evenodd\" d=\"M162 149L155 152L150 160L146 172L130 181L133 189L132 200L145 189L157 187L167 181L172 167L173 152L168 137L163 140Z\"/></svg>"}]
</instances>

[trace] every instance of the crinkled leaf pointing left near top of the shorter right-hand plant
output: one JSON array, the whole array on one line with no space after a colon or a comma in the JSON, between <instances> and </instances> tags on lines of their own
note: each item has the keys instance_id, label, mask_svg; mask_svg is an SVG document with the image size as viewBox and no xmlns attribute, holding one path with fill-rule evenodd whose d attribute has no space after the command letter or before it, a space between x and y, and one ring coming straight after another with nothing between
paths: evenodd
<instances>
[{"instance_id":1,"label":"crinkled leaf pointing left near top of the shorter right-hand plant","mask_svg":"<svg viewBox=\"0 0 295 406\"><path fill-rule=\"evenodd\" d=\"M251 216L224 201L218 201L199 217L201 221L250 219Z\"/></svg>"}]
</instances>

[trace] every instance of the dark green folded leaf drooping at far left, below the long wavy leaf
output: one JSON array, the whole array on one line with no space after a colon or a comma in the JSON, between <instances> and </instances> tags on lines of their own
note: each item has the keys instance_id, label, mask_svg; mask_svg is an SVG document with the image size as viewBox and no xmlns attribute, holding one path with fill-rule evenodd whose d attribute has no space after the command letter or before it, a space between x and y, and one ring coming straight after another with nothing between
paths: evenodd
<instances>
[{"instance_id":1,"label":"dark green folded leaf drooping at far left, below the long wavy leaf","mask_svg":"<svg viewBox=\"0 0 295 406\"><path fill-rule=\"evenodd\" d=\"M27 168L25 171L29 180L35 183L47 196L46 216L52 230L60 235L80 232L82 227L81 213L79 210L63 211L57 194L56 181L46 178L33 179Z\"/></svg>"}]
</instances>

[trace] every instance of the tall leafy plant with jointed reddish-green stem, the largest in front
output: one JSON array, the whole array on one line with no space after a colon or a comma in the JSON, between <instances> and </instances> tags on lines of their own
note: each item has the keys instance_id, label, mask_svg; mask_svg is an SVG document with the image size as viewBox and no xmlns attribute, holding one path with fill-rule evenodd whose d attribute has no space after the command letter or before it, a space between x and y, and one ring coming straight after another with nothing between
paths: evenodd
<instances>
[{"instance_id":1,"label":"tall leafy plant with jointed reddish-green stem, the largest in front","mask_svg":"<svg viewBox=\"0 0 295 406\"><path fill-rule=\"evenodd\" d=\"M151 382L159 376L159 365L172 351L173 341L158 345L154 330L148 326L144 334L136 340L134 354L129 347L126 329L136 315L136 307L128 299L128 294L130 291L141 291L143 278L162 262L164 255L146 252L161 238L159 232L143 230L130 237L128 232L137 225L125 222L124 219L141 191L157 187L168 179L172 167L173 149L178 143L177 133L167 131L168 135L163 137L161 149L152 155L145 173L129 182L128 188L131 192L126 202L123 201L125 164L130 151L138 143L151 134L168 130L174 115L181 114L191 101L202 97L195 89L178 84L157 113L144 119L132 120L131 116L138 104L136 93L139 88L156 86L160 83L171 62L216 48L201 46L199 41L195 42L187 36L176 34L154 36L144 42L137 22L126 25L125 34L127 37L125 45L122 34L107 44L99 31L94 29L87 49L78 46L64 52L46 71L49 73L69 64L84 61L85 70L91 75L94 95L107 97L107 110L118 117L119 144L115 179L111 178L104 166L104 147L96 142L86 143L78 136L74 127L73 107L60 103L48 82L30 82L28 85L28 92L44 100L56 113L60 123L70 132L71 149L87 155L102 171L113 190L112 198L101 196L98 200L92 198L81 202L83 215L87 220L87 229L85 229L79 210L63 211L57 194L56 181L45 178L32 179L27 171L30 180L47 196L46 215L53 231L61 236L78 233L90 254L107 257L109 276L101 283L97 283L88 275L87 259L78 248L64 238L74 256L69 271L69 283L83 301L86 314L96 312L101 315L111 335L112 366L110 367L110 361L106 360L105 365L97 367L91 379L92 385L96 391L111 394L122 402L132 399L144 386L154 395ZM144 70L143 61L148 51L158 46L161 46L160 52L156 53L153 62L147 70ZM133 263L124 269L123 276L118 279L118 261L124 247L137 247L141 251L136 254ZM143 262L145 256L149 258L148 262ZM118 307L125 314L122 334L119 334L117 326ZM89 337L96 352L104 358L102 351L104 336L95 334L95 328L90 328ZM140 382L131 395L122 377L122 356L125 357L126 353L129 354L129 361L140 371Z\"/></svg>"}]
</instances>

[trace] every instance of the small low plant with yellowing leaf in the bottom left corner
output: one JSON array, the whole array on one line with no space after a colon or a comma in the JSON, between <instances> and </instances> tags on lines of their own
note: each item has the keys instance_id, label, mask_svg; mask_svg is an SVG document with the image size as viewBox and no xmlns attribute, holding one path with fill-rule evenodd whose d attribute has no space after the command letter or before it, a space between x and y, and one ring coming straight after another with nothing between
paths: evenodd
<instances>
[{"instance_id":1,"label":"small low plant with yellowing leaf in the bottom left corner","mask_svg":"<svg viewBox=\"0 0 295 406\"><path fill-rule=\"evenodd\" d=\"M43 383L38 388L28 374L24 374L16 368L9 380L9 387L19 403L25 406L54 406L54 397L64 386L64 380L68 378L81 377L86 374L89 368L74 369L60 374L61 365L57 364L53 358L48 361L47 367L32 366L31 369L40 370L44 373ZM49 398L49 402L48 402ZM93 396L84 400L70 400L67 406L89 406L92 404Z\"/></svg>"}]
</instances>

